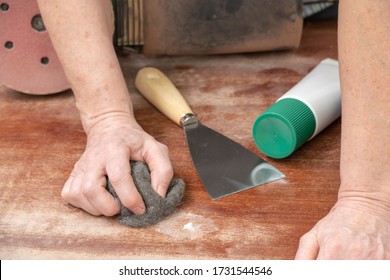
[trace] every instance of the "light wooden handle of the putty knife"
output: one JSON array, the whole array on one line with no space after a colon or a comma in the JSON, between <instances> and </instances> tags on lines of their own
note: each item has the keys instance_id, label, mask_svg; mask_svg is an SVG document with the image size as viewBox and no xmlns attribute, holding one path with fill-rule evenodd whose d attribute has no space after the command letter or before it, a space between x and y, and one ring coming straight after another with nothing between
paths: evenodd
<instances>
[{"instance_id":1,"label":"light wooden handle of the putty knife","mask_svg":"<svg viewBox=\"0 0 390 280\"><path fill-rule=\"evenodd\" d=\"M183 95L168 77L156 68L142 68L135 78L135 86L161 113L180 126L182 117L194 114Z\"/></svg>"}]
</instances>

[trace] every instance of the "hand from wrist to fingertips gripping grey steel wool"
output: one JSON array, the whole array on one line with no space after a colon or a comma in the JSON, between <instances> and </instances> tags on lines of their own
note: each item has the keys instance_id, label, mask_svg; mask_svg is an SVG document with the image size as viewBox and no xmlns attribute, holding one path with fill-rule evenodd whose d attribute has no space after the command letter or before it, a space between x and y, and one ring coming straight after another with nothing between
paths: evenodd
<instances>
[{"instance_id":1,"label":"hand from wrist to fingertips gripping grey steel wool","mask_svg":"<svg viewBox=\"0 0 390 280\"><path fill-rule=\"evenodd\" d=\"M165 196L173 176L168 149L143 131L133 117L106 117L88 129L87 137L85 152L63 187L65 201L96 216L118 214L119 202L106 190L107 176L122 204L143 214L145 205L131 177L130 159L146 162L154 190Z\"/></svg>"}]
</instances>

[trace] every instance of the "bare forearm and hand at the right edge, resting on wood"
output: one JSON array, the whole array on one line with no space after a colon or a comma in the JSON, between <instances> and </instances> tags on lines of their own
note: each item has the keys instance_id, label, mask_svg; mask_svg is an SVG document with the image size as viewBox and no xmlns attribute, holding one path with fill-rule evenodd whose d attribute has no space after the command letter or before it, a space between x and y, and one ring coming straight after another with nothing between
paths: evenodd
<instances>
[{"instance_id":1,"label":"bare forearm and hand at the right edge, resting on wood","mask_svg":"<svg viewBox=\"0 0 390 280\"><path fill-rule=\"evenodd\" d=\"M390 259L390 2L341 0L338 201L296 259Z\"/></svg>"}]
</instances>

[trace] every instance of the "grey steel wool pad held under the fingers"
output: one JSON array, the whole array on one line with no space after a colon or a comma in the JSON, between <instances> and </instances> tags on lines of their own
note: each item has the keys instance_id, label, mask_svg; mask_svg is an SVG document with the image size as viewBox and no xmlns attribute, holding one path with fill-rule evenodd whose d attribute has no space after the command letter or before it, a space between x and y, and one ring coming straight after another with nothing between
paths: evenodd
<instances>
[{"instance_id":1,"label":"grey steel wool pad held under the fingers","mask_svg":"<svg viewBox=\"0 0 390 280\"><path fill-rule=\"evenodd\" d=\"M130 164L131 176L144 200L146 211L143 215L135 215L121 204L121 212L117 220L131 227L154 225L172 214L180 203L185 189L184 181L182 179L173 179L164 198L153 190L148 166L145 163L136 161L130 161ZM115 198L118 198L109 180L107 180L107 189Z\"/></svg>"}]
</instances>

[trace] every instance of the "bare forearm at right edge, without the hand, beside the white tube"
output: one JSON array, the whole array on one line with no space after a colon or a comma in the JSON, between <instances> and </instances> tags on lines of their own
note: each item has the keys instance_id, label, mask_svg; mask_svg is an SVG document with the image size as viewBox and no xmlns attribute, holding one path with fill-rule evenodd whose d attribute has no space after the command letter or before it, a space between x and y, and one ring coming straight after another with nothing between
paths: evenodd
<instances>
[{"instance_id":1,"label":"bare forearm at right edge, without the hand, beside the white tube","mask_svg":"<svg viewBox=\"0 0 390 280\"><path fill-rule=\"evenodd\" d=\"M390 2L340 1L342 90L339 198L390 209Z\"/></svg>"}]
</instances>

